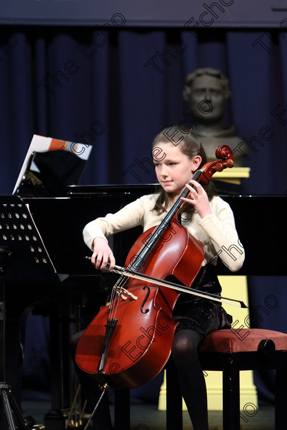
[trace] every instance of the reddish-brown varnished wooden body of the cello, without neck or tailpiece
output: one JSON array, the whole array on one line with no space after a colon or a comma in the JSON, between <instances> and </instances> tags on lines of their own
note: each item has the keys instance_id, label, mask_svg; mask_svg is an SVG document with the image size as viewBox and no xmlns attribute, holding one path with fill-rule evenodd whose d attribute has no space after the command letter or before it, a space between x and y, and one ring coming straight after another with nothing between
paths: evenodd
<instances>
[{"instance_id":1,"label":"reddish-brown varnished wooden body of the cello, without neck or tailpiece","mask_svg":"<svg viewBox=\"0 0 287 430\"><path fill-rule=\"evenodd\" d=\"M153 230L151 228L139 236L128 254L126 265L134 260L142 241ZM173 276L183 285L189 286L204 260L202 244L191 238L176 221L161 233L154 252L150 252L142 266L145 274L156 274L159 279ZM190 253L193 255L192 265ZM177 262L176 266L174 261ZM105 380L113 388L132 388L154 378L169 358L177 326L171 315L178 292L131 278L125 288L137 298L116 297L116 304L110 305L117 306L118 321L109 342L104 369L97 371L104 349L105 325L110 306L100 308L80 339L76 355L80 369L105 375ZM125 293L122 295L125 297Z\"/></svg>"}]
</instances>

